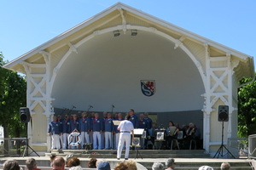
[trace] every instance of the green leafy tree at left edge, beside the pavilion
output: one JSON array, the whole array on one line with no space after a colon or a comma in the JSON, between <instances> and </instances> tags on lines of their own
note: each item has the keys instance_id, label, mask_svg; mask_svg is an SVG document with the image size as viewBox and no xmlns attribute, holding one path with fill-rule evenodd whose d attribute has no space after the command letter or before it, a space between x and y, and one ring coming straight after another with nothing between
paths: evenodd
<instances>
[{"instance_id":1,"label":"green leafy tree at left edge, beside the pavilion","mask_svg":"<svg viewBox=\"0 0 256 170\"><path fill-rule=\"evenodd\" d=\"M3 54L0 53L0 65L4 64ZM0 125L6 138L26 135L26 124L20 122L22 106L26 106L25 78L0 66Z\"/></svg>"}]
</instances>

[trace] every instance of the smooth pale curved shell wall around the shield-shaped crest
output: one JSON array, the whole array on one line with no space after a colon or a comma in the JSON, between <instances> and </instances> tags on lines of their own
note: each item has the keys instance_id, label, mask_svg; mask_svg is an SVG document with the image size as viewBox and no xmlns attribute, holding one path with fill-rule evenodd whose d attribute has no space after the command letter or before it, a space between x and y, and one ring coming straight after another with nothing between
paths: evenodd
<instances>
[{"instance_id":1,"label":"smooth pale curved shell wall around the shield-shaped crest","mask_svg":"<svg viewBox=\"0 0 256 170\"><path fill-rule=\"evenodd\" d=\"M58 71L53 106L96 111L195 111L204 87L195 64L164 37L139 31L137 37L105 33L85 42ZM156 93L141 92L141 80L154 80Z\"/></svg>"}]
</instances>

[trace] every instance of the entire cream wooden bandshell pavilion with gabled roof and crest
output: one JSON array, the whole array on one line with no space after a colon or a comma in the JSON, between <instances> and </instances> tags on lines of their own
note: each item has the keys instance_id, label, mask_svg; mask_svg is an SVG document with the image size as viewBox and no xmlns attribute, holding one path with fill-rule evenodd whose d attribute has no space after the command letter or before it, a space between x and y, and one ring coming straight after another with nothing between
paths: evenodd
<instances>
[{"instance_id":1,"label":"entire cream wooden bandshell pavilion with gabled roof and crest","mask_svg":"<svg viewBox=\"0 0 256 170\"><path fill-rule=\"evenodd\" d=\"M230 29L232 29L230 27ZM147 111L158 124L195 122L203 148L221 144L218 105L229 106L224 143L237 138L237 88L253 57L116 3L3 65L26 75L30 145L50 150L49 122L73 111ZM56 111L58 113L56 113Z\"/></svg>"}]
</instances>

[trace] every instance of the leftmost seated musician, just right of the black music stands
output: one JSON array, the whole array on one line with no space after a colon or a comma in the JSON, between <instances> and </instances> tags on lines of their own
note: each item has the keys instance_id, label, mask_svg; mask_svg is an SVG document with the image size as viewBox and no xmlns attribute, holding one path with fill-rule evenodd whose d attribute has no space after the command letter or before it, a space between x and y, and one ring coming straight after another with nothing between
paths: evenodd
<instances>
[{"instance_id":1,"label":"leftmost seated musician, just right of the black music stands","mask_svg":"<svg viewBox=\"0 0 256 170\"><path fill-rule=\"evenodd\" d=\"M170 149L172 140L177 139L177 133L179 129L174 125L172 121L169 122L166 128L166 148Z\"/></svg>"}]
</instances>

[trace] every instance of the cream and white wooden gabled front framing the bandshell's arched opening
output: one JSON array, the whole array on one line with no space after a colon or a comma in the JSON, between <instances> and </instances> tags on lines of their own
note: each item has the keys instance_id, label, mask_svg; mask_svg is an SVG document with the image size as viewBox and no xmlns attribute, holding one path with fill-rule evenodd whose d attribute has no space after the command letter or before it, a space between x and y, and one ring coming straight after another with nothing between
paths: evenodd
<instances>
[{"instance_id":1,"label":"cream and white wooden gabled front framing the bandshell's arched opening","mask_svg":"<svg viewBox=\"0 0 256 170\"><path fill-rule=\"evenodd\" d=\"M29 124L28 134L35 150L49 150L50 140L46 134L48 123L54 114L53 107L57 105L53 105L56 102L53 95L58 94L55 92L55 86L60 84L56 82L56 77L65 69L67 71L69 59L82 59L81 56L85 55L82 53L83 48L86 48L84 44L88 46L91 42L98 41L96 38L106 38L106 35L116 30L124 37L131 30L141 31L145 42L148 40L147 35L157 37L157 41L163 44L170 43L170 50L172 48L172 51L182 52L182 56L185 54L191 59L191 65L196 68L201 79L197 77L196 80L201 82L202 87L198 90L202 92L198 96L201 95L204 104L199 109L203 111L203 146L207 151L215 152L221 142L218 105L230 107L230 121L224 123L224 140L237 137L237 82L242 77L253 77L253 58L123 3L117 3L90 20L3 65L4 68L26 74L27 107L32 113L32 125ZM108 54L109 58L113 58L111 53L113 52ZM180 72L182 71L177 72L177 75L182 74ZM182 78L178 80L183 81ZM166 108L168 109L168 106Z\"/></svg>"}]
</instances>

